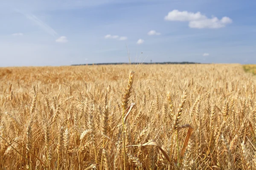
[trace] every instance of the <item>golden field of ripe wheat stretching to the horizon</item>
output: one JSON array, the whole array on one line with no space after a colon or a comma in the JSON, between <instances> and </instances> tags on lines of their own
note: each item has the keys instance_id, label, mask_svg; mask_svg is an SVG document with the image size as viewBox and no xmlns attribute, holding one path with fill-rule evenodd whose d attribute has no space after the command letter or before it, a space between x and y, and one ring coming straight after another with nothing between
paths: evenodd
<instances>
[{"instance_id":1,"label":"golden field of ripe wheat stretching to the horizon","mask_svg":"<svg viewBox=\"0 0 256 170\"><path fill-rule=\"evenodd\" d=\"M255 85L239 64L0 68L0 169L256 169Z\"/></svg>"}]
</instances>

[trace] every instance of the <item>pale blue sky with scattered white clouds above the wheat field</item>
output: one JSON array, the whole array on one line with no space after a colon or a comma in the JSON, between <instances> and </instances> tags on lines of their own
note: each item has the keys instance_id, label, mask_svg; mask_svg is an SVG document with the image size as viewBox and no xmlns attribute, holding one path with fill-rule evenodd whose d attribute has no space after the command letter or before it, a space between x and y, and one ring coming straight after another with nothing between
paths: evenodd
<instances>
[{"instance_id":1,"label":"pale blue sky with scattered white clouds above the wheat field","mask_svg":"<svg viewBox=\"0 0 256 170\"><path fill-rule=\"evenodd\" d=\"M255 8L254 0L6 0L0 66L128 62L127 48L131 61L256 64Z\"/></svg>"}]
</instances>

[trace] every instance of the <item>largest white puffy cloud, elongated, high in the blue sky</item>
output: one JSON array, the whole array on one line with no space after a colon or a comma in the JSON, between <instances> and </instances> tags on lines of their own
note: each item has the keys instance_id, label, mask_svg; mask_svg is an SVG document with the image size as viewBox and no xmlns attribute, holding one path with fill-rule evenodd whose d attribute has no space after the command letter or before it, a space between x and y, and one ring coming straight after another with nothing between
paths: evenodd
<instances>
[{"instance_id":1,"label":"largest white puffy cloud, elongated, high in the blue sky","mask_svg":"<svg viewBox=\"0 0 256 170\"><path fill-rule=\"evenodd\" d=\"M201 12L188 12L179 11L177 9L170 11L165 17L168 21L183 21L189 22L190 28L223 28L227 24L232 23L229 17L222 17L219 20L217 17L208 18L207 16L201 14Z\"/></svg>"}]
</instances>

